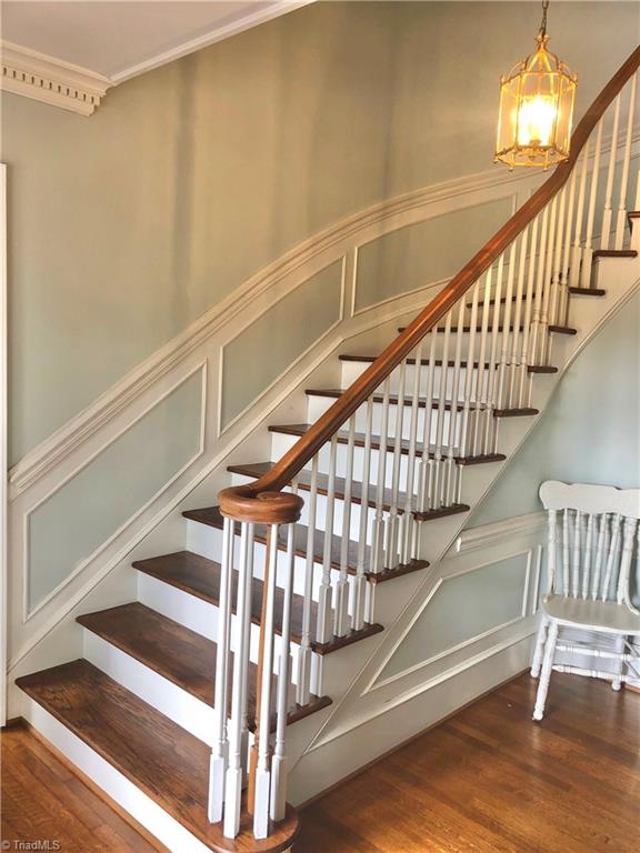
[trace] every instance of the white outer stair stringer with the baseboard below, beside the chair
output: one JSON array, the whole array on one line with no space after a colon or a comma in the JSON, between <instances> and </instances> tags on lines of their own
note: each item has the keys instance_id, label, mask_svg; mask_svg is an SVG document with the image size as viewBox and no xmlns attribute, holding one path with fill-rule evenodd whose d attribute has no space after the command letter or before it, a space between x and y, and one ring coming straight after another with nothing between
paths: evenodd
<instances>
[{"instance_id":1,"label":"white outer stair stringer with the baseboard below, beside the chair","mask_svg":"<svg viewBox=\"0 0 640 853\"><path fill-rule=\"evenodd\" d=\"M539 414L502 420L498 444L500 452L507 454L507 461L464 472L463 500L472 509L488 495L539 423L567 369L640 289L640 259L607 258L596 264L594 278L594 287L607 291L603 297L571 299L571 324L578 333L552 335L550 363L558 367L558 373L533 378L531 405L539 410ZM537 485L532 484L532 488ZM521 630L513 632L506 643L498 644L492 655L479 655L477 661L472 659L468 665L456 665L449 674L444 673L433 685L438 695L433 694L431 703L428 701L429 685L421 689L419 678L417 680L412 672L372 689L377 675L401 644L407 625L417 618L439 583L439 565L454 546L466 518L451 516L423 525L421 556L430 561L430 568L418 575L383 584L377 593L376 620L386 631L352 646L348 659L330 655L326 661L323 688L333 704L323 719L317 721L317 732L302 750L293 740L288 744L290 801L294 805L314 797L412 734L527 668L534 619L523 620ZM418 717L412 719L413 715Z\"/></svg>"}]
</instances>

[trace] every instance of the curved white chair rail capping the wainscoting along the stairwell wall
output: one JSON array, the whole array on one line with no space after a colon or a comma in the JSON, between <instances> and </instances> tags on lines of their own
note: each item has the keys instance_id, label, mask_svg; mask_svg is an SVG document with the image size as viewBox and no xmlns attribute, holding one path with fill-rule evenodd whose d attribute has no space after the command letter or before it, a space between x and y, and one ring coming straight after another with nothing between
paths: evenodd
<instances>
[{"instance_id":1,"label":"curved white chair rail capping the wainscoting along the stairwell wall","mask_svg":"<svg viewBox=\"0 0 640 853\"><path fill-rule=\"evenodd\" d=\"M353 248L353 244L371 239L372 234L368 232L376 230L381 237L408 224L408 220L419 221L416 219L416 212L428 210L436 202L456 199L490 187L527 180L530 180L530 175L518 173L514 177L510 172L487 171L432 184L366 208L299 243L244 281L226 299L101 394L87 409L29 451L10 471L10 500L14 500L28 486L78 450L97 430L111 421L118 412L140 397L192 350L246 311L248 304L288 275L310 264L319 255L328 255L322 258L320 269L329 267ZM300 283L302 282L298 282ZM430 287L432 284L427 284L424 289ZM419 292L421 291L417 291ZM394 300L412 294L402 293L394 297ZM371 305L367 310L376 308Z\"/></svg>"}]
</instances>

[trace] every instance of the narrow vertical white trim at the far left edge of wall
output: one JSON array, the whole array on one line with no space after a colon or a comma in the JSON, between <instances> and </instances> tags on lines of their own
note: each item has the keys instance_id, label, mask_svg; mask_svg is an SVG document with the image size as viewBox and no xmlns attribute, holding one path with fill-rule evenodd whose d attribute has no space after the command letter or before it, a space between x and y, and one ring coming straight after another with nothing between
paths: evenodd
<instances>
[{"instance_id":1,"label":"narrow vertical white trim at the far left edge of wall","mask_svg":"<svg viewBox=\"0 0 640 853\"><path fill-rule=\"evenodd\" d=\"M7 165L0 163L0 725L7 722Z\"/></svg>"}]
</instances>

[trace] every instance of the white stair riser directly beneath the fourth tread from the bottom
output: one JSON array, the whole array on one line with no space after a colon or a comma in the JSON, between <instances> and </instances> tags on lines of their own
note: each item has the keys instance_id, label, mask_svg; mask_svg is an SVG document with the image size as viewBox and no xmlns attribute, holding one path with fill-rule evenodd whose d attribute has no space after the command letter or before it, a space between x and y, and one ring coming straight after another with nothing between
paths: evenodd
<instances>
[{"instance_id":1,"label":"white stair riser directly beneath the fourth tread from the bottom","mask_svg":"<svg viewBox=\"0 0 640 853\"><path fill-rule=\"evenodd\" d=\"M220 561L220 554L222 553L222 531L217 528L210 528L207 524L200 524L197 521L188 521L187 528L187 545L189 551L196 554L206 556L209 560ZM267 556L267 548L261 542L256 542L253 545L253 576L262 579L264 576L264 560ZM240 562L240 536L234 538L234 562L233 565L238 566ZM316 561L313 569L313 599L318 600L318 590L320 588L322 572L321 560ZM297 595L302 595L304 592L304 576L307 573L307 560L303 556L297 555L293 561L293 592ZM339 578L337 569L331 571L331 582L336 583ZM278 563L276 583L278 586L283 588L287 579L287 552L278 551Z\"/></svg>"}]
</instances>

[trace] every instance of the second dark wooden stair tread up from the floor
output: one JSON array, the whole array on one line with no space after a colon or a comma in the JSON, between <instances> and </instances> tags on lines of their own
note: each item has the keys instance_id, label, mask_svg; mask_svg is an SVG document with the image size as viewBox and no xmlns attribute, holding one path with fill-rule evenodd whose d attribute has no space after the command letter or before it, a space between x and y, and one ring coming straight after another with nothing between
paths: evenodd
<instances>
[{"instance_id":1,"label":"second dark wooden stair tread up from the floor","mask_svg":"<svg viewBox=\"0 0 640 853\"><path fill-rule=\"evenodd\" d=\"M218 646L212 640L191 631L140 602L86 613L76 620L111 645L143 663L191 695L213 708ZM233 669L231 668L231 678ZM249 664L248 714L252 729L256 716L258 668ZM273 680L276 686L276 679ZM229 705L231 691L229 691ZM311 696L307 705L294 701L290 688L288 723L293 723L331 704L329 696ZM228 713L231 709L228 708ZM274 724L276 720L273 720Z\"/></svg>"}]
</instances>

